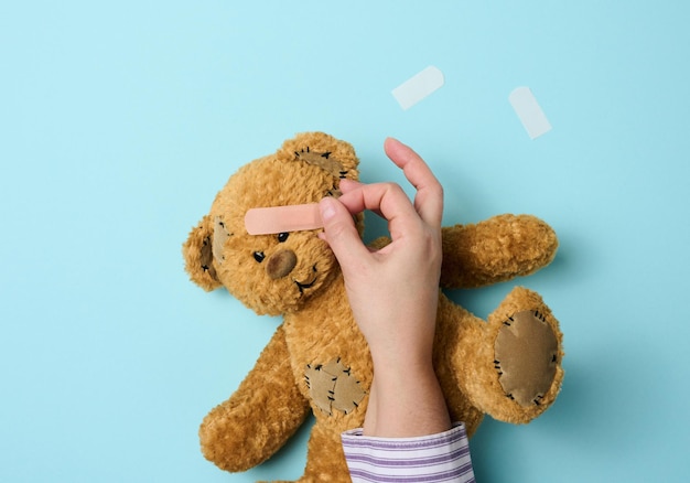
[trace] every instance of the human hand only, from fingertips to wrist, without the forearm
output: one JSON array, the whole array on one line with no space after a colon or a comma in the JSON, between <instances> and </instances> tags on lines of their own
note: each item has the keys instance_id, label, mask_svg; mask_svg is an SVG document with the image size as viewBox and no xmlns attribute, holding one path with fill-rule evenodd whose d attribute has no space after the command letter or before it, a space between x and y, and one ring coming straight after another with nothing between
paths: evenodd
<instances>
[{"instance_id":1,"label":"human hand only, from fingertips to wrist, without the forearm","mask_svg":"<svg viewBox=\"0 0 690 483\"><path fill-rule=\"evenodd\" d=\"M349 303L375 358L407 363L430 355L441 273L443 190L410 148L387 139L388 157L417 189L414 204L395 183L342 180L343 195L321 202L323 238L337 257ZM370 210L388 221L391 243L371 251L352 215Z\"/></svg>"}]
</instances>

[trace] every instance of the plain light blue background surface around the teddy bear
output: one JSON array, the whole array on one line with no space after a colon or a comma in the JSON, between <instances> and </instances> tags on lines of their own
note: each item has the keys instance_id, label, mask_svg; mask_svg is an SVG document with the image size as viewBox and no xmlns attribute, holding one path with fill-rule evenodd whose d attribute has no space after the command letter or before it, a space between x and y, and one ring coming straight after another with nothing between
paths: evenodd
<instances>
[{"instance_id":1,"label":"plain light blue background surface around the teddy bear","mask_svg":"<svg viewBox=\"0 0 690 483\"><path fill-rule=\"evenodd\" d=\"M302 472L306 431L245 474L201 419L279 320L187 281L181 244L241 164L295 132L351 141L365 181L411 144L445 224L531 213L561 247L519 283L565 334L540 419L487 419L479 482L690 472L690 3L2 2L0 481L245 482ZM403 111L390 90L435 65ZM553 130L530 140L508 94ZM380 225L371 223L373 232ZM485 316L514 283L453 292Z\"/></svg>"}]
</instances>

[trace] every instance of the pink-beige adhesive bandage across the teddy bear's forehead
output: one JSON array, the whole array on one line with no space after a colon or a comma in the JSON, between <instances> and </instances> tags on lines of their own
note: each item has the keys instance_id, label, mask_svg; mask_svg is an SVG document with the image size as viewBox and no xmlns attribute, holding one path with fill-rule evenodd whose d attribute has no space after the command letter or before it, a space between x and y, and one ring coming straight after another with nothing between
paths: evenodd
<instances>
[{"instance_id":1,"label":"pink-beige adhesive bandage across the teddy bear's forehead","mask_svg":"<svg viewBox=\"0 0 690 483\"><path fill-rule=\"evenodd\" d=\"M251 208L245 215L245 227L249 235L300 232L323 227L316 203L308 205Z\"/></svg>"}]
</instances>

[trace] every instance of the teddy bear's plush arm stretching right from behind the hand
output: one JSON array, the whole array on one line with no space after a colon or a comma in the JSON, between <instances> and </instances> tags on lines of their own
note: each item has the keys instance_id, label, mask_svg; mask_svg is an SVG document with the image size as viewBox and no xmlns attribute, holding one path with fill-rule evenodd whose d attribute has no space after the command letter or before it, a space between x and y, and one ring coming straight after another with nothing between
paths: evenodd
<instances>
[{"instance_id":1,"label":"teddy bear's plush arm stretching right from behind the hand","mask_svg":"<svg viewBox=\"0 0 690 483\"><path fill-rule=\"evenodd\" d=\"M474 288L532 273L553 260L558 238L531 215L499 215L442 228L441 286Z\"/></svg>"}]
</instances>

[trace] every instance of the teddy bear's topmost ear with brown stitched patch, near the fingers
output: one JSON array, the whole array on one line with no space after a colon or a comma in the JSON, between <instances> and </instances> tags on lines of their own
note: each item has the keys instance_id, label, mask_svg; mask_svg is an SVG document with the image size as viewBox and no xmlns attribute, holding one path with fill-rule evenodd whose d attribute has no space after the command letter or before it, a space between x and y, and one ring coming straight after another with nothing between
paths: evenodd
<instances>
[{"instance_id":1,"label":"teddy bear's topmost ear with brown stitched patch, near the fingers","mask_svg":"<svg viewBox=\"0 0 690 483\"><path fill-rule=\"evenodd\" d=\"M359 178L359 160L352 144L325 132L302 132L283 142L276 157L284 162L303 161L316 165L336 179Z\"/></svg>"}]
</instances>

